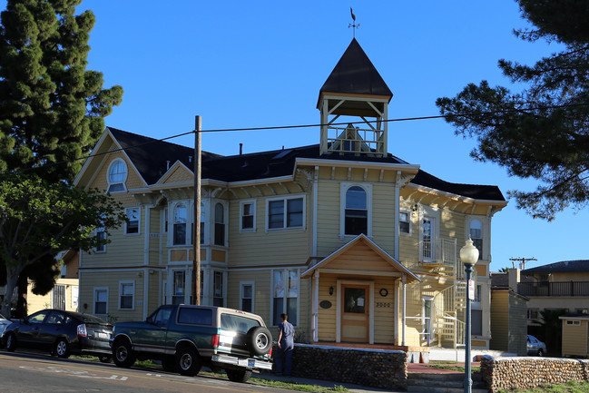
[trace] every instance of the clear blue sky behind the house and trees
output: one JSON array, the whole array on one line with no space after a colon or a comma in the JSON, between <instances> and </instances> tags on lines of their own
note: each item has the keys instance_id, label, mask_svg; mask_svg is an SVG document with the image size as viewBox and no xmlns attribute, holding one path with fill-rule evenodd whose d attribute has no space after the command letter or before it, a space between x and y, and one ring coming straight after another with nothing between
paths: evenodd
<instances>
[{"instance_id":1,"label":"clear blue sky behind the house and trees","mask_svg":"<svg viewBox=\"0 0 589 393\"><path fill-rule=\"evenodd\" d=\"M5 9L5 0L0 2ZM390 118L439 114L437 97L468 83L508 81L497 61L533 64L556 46L518 40L527 26L515 1L193 1L84 0L96 15L89 68L105 86L123 85L121 106L106 124L164 138L194 128L247 128L319 123L319 88L352 39L394 93ZM491 163L474 162L475 143L441 119L389 125L388 151L448 182L495 184L504 192L532 190ZM172 140L191 146L192 136ZM319 129L205 133L202 148L221 154L319 142ZM564 211L553 222L533 220L511 201L496 213L492 270L510 258L535 257L526 267L589 259L582 244L586 211Z\"/></svg>"}]
</instances>

